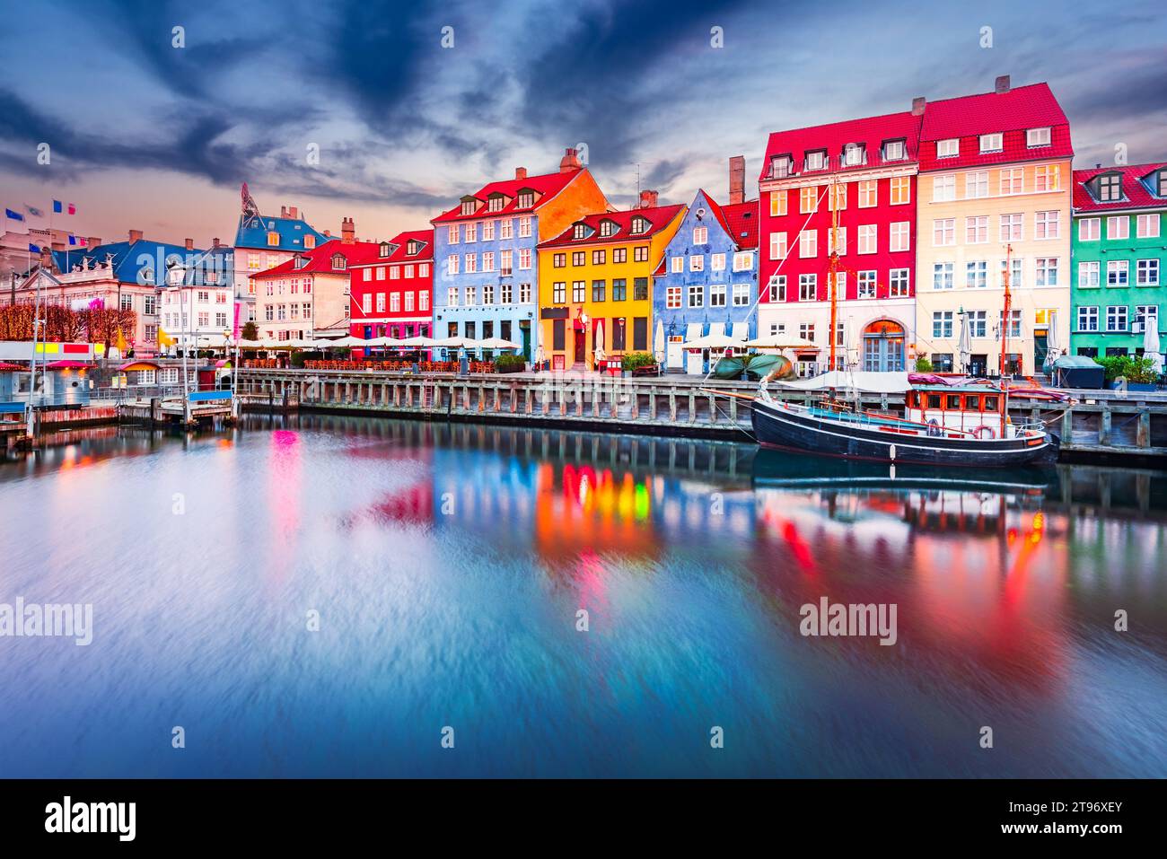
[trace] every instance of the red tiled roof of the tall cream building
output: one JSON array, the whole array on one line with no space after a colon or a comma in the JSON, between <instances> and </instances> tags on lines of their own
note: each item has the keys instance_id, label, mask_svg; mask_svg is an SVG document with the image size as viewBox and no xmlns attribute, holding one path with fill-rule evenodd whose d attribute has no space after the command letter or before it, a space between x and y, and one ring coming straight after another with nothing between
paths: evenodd
<instances>
[{"instance_id":1,"label":"red tiled roof of the tall cream building","mask_svg":"<svg viewBox=\"0 0 1167 859\"><path fill-rule=\"evenodd\" d=\"M1030 128L1049 128L1049 146L1030 147L1026 138ZM978 138L998 133L1001 149L981 153ZM960 140L959 154L937 158L936 141L952 139ZM1074 156L1069 121L1044 83L931 102L924 107L920 141L921 170Z\"/></svg>"}]
</instances>

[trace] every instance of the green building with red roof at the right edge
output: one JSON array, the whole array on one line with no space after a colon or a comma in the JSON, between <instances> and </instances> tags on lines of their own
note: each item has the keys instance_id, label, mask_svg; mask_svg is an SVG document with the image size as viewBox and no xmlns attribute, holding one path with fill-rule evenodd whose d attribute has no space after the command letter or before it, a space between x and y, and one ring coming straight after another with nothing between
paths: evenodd
<instances>
[{"instance_id":1,"label":"green building with red roof at the right edge","mask_svg":"<svg viewBox=\"0 0 1167 859\"><path fill-rule=\"evenodd\" d=\"M1165 214L1167 163L1074 172L1070 354L1141 354L1148 326L1163 337Z\"/></svg>"}]
</instances>

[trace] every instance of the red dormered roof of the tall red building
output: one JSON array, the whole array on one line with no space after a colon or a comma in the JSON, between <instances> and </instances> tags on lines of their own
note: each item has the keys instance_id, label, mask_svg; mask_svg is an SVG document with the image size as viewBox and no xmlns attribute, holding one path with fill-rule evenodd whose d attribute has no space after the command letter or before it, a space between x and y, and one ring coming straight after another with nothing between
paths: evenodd
<instances>
[{"instance_id":1,"label":"red dormered roof of the tall red building","mask_svg":"<svg viewBox=\"0 0 1167 859\"><path fill-rule=\"evenodd\" d=\"M882 160L882 146L886 140L904 140L907 158L896 161ZM812 125L794 131L776 131L766 144L766 159L762 162L762 181L770 176L771 159L775 155L790 155L791 174L802 174L808 152L826 149L827 169L815 173L832 173L837 170L861 170L883 163L911 163L916 160L920 140L920 117L906 111L887 113L882 117L848 119L830 125ZM865 148L865 163L846 166L843 163L843 147L847 144L861 144Z\"/></svg>"}]
</instances>

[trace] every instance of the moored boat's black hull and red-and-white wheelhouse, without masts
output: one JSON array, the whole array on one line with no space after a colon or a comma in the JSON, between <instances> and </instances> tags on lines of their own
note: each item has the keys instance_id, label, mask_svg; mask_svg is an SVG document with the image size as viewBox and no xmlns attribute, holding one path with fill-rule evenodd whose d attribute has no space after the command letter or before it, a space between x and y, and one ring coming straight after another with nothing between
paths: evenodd
<instances>
[{"instance_id":1,"label":"moored boat's black hull and red-and-white wheelhouse, without masts","mask_svg":"<svg viewBox=\"0 0 1167 859\"><path fill-rule=\"evenodd\" d=\"M840 373L841 375L841 373ZM840 385L841 386L841 385ZM911 384L904 417L826 398L753 401L759 444L827 456L924 466L1012 468L1057 459L1061 440L1043 424L1014 424L1008 390L990 382Z\"/></svg>"}]
</instances>

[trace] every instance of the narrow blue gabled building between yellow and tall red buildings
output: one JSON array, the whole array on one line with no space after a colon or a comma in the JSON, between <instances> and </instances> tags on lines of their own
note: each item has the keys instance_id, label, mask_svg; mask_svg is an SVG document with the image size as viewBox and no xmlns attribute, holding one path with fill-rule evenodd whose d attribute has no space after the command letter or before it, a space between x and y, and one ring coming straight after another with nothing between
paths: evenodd
<instances>
[{"instance_id":1,"label":"narrow blue gabled building between yellow and tall red buildings","mask_svg":"<svg viewBox=\"0 0 1167 859\"><path fill-rule=\"evenodd\" d=\"M740 201L740 186L731 194ZM704 190L693 198L654 281L654 342L663 331L668 369L705 371L708 355L686 354L686 340L756 336L757 217L756 200L722 207Z\"/></svg>"}]
</instances>

